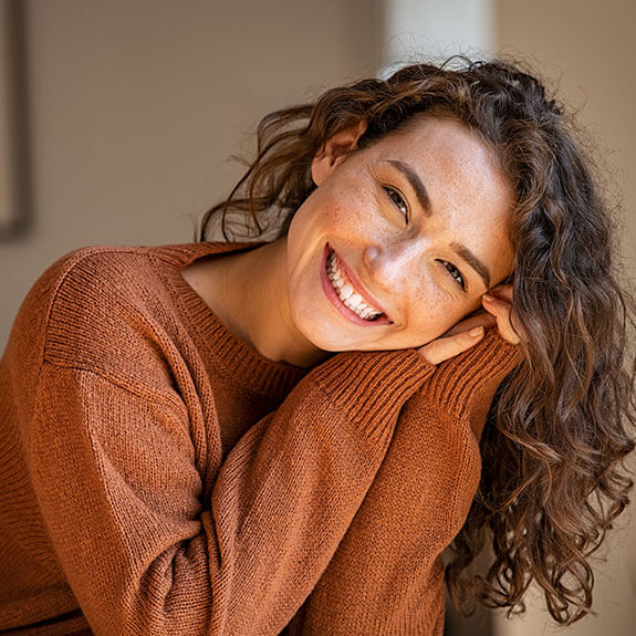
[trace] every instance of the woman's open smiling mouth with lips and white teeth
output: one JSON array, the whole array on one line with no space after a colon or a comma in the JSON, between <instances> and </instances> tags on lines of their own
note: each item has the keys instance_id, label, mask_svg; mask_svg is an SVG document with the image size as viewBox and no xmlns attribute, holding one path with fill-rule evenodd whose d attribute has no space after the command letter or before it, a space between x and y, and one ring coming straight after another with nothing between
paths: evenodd
<instances>
[{"instance_id":1,"label":"woman's open smiling mouth with lips and white teeth","mask_svg":"<svg viewBox=\"0 0 636 636\"><path fill-rule=\"evenodd\" d=\"M350 322L359 326L392 324L379 303L366 291L329 243L323 253L321 281L325 295Z\"/></svg>"}]
</instances>

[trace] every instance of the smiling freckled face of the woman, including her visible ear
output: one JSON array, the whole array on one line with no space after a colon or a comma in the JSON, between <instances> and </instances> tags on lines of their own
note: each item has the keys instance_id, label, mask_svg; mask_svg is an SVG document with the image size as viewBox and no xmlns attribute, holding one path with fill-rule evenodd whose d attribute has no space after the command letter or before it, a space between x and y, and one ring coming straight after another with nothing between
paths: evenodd
<instances>
[{"instance_id":1,"label":"smiling freckled face of the woman, including her visible ear","mask_svg":"<svg viewBox=\"0 0 636 636\"><path fill-rule=\"evenodd\" d=\"M316 156L317 188L290 227L292 321L330 352L421 346L512 272L510 187L450 118L417 117L346 159L344 148L334 137Z\"/></svg>"}]
</instances>

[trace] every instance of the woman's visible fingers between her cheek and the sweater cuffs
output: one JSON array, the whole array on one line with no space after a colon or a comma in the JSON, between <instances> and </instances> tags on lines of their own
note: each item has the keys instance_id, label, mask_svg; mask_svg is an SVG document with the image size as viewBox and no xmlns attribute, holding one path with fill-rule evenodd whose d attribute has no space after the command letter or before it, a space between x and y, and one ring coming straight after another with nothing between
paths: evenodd
<instances>
[{"instance_id":1,"label":"woman's visible fingers between her cheek and the sweater cuffs","mask_svg":"<svg viewBox=\"0 0 636 636\"><path fill-rule=\"evenodd\" d=\"M521 342L520 329L514 326L512 311L512 285L499 285L482 296L480 310L469 317L458 322L442 336L419 347L418 352L429 364L439 364L450 359L471 346L475 346L487 329L497 326L499 335L510 344Z\"/></svg>"}]
</instances>

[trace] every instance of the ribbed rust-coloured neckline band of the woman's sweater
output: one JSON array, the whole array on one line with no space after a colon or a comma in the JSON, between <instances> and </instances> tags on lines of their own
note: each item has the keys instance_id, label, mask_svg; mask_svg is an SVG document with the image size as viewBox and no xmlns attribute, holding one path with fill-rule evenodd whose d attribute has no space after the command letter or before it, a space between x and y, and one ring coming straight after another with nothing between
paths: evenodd
<instances>
[{"instance_id":1,"label":"ribbed rust-coloured neckline band of the woman's sweater","mask_svg":"<svg viewBox=\"0 0 636 636\"><path fill-rule=\"evenodd\" d=\"M262 356L228 329L183 275L184 269L196 260L251 250L260 244L187 243L156 248L156 256L173 265L166 272L168 283L185 315L189 317L198 340L197 346L204 357L213 358L215 364L222 366L232 378L241 383L243 389L283 399L310 369Z\"/></svg>"}]
</instances>

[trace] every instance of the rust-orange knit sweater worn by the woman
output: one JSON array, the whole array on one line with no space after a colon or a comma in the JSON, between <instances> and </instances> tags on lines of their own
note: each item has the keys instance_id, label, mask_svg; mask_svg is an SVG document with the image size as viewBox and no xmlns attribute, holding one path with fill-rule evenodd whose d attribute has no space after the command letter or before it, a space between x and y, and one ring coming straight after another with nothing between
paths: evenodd
<instances>
[{"instance_id":1,"label":"rust-orange knit sweater worn by the woman","mask_svg":"<svg viewBox=\"0 0 636 636\"><path fill-rule=\"evenodd\" d=\"M0 633L441 635L515 347L272 362L181 275L239 248L87 248L30 291L0 361Z\"/></svg>"}]
</instances>

